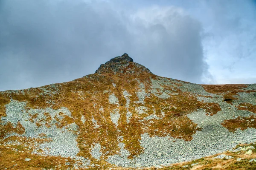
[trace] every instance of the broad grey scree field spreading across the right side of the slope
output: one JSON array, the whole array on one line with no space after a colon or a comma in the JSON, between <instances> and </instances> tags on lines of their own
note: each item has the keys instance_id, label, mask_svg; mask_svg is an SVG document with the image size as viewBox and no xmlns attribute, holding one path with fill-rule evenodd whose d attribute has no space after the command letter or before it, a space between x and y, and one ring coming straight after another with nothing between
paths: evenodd
<instances>
[{"instance_id":1,"label":"broad grey scree field spreading across the right side of the slope","mask_svg":"<svg viewBox=\"0 0 256 170\"><path fill-rule=\"evenodd\" d=\"M151 79L151 81L151 93L159 98L166 98L169 96L168 91L160 85L173 85L172 82L175 82L173 79L168 80L162 78L159 78L158 80ZM254 93L240 93L239 100L235 102L235 105L230 105L229 103L224 102L221 97L218 97L218 95L206 92L201 85L192 83L181 84L182 86L180 89L182 89L182 91L193 92L196 96L199 94L213 96L214 98L198 96L198 100L218 103L221 107L221 111L213 116L207 116L204 110L198 110L187 115L189 119L198 124L198 127L202 127L201 131L197 131L195 135L193 135L192 141L175 139L172 136L150 137L147 133L144 133L141 135L140 141L141 146L144 148L144 152L142 154L132 161L119 155L111 156L111 159L108 161L122 167L167 166L168 164L176 162L191 161L211 156L216 153L222 153L227 150L232 150L233 147L236 147L236 145L240 143L256 142L256 129L254 128L236 130L235 133L232 133L221 125L221 123L226 119L235 119L238 116L248 117L254 115L254 113L250 111L238 110L235 107L241 102L248 102L256 105L256 99L254 98L253 100ZM254 89L255 86L256 85L251 85L250 89ZM140 85L140 87L143 87L143 85ZM145 92L140 90L137 92L137 96L139 99L142 99L139 96L145 96ZM140 106L137 107L137 111L142 114L145 113L147 109L144 106ZM145 117L145 119L160 118L151 114L148 117Z\"/></svg>"}]
</instances>

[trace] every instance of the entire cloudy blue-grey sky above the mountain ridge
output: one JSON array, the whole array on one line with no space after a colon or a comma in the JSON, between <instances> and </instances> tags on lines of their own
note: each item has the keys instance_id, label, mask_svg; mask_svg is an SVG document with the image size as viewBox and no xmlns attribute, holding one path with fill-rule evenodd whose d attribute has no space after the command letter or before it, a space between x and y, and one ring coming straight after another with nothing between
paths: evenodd
<instances>
[{"instance_id":1,"label":"entire cloudy blue-grey sky above the mountain ridge","mask_svg":"<svg viewBox=\"0 0 256 170\"><path fill-rule=\"evenodd\" d=\"M256 83L256 1L0 0L0 91L71 81L123 53L163 77Z\"/></svg>"}]
</instances>

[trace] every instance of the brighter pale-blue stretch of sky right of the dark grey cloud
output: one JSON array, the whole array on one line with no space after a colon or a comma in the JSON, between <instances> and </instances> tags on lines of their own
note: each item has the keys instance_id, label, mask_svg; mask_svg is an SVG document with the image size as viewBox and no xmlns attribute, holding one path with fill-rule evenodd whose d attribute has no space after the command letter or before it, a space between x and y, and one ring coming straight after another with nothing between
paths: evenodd
<instances>
[{"instance_id":1,"label":"brighter pale-blue stretch of sky right of the dark grey cloud","mask_svg":"<svg viewBox=\"0 0 256 170\"><path fill-rule=\"evenodd\" d=\"M206 28L204 55L216 83L253 82L256 67L256 4L253 0L209 0L200 18ZM200 13L200 14L201 14ZM237 80L237 82L235 82ZM255 83L255 82L254 82Z\"/></svg>"}]
</instances>

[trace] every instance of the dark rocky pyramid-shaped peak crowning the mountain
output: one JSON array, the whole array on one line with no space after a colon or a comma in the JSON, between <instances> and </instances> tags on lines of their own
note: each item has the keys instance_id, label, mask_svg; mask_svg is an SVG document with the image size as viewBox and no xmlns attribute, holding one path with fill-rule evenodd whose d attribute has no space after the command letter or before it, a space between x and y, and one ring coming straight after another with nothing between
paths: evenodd
<instances>
[{"instance_id":1,"label":"dark rocky pyramid-shaped peak crowning the mountain","mask_svg":"<svg viewBox=\"0 0 256 170\"><path fill-rule=\"evenodd\" d=\"M117 56L101 64L96 70L96 74L141 74L143 72L151 73L151 71L143 65L133 62L133 59L126 53L122 56Z\"/></svg>"}]
</instances>

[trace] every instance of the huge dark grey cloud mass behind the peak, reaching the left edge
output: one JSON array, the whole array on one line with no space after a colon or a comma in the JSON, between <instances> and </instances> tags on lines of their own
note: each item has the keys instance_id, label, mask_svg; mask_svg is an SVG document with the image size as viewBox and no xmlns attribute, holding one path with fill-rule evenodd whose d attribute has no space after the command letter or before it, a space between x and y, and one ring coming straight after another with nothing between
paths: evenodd
<instances>
[{"instance_id":1,"label":"huge dark grey cloud mass behind the peak, reaching the left edge","mask_svg":"<svg viewBox=\"0 0 256 170\"><path fill-rule=\"evenodd\" d=\"M70 81L128 53L154 74L201 83L201 25L174 7L0 1L0 91ZM119 7L119 10L116 8Z\"/></svg>"}]
</instances>

